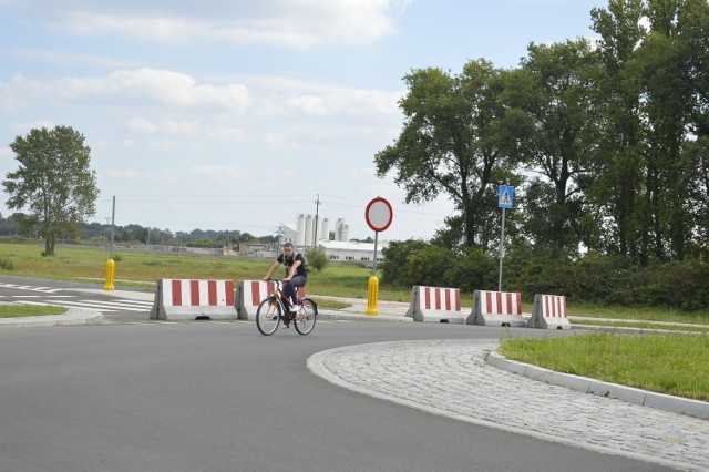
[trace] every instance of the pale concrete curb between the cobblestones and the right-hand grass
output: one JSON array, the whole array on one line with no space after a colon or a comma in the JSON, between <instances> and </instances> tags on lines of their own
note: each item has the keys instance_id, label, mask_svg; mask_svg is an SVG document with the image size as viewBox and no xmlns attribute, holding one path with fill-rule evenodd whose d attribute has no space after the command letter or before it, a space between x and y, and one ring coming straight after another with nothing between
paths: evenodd
<instances>
[{"instance_id":1,"label":"pale concrete curb between the cobblestones and the right-hand grass","mask_svg":"<svg viewBox=\"0 0 709 472\"><path fill-rule=\"evenodd\" d=\"M688 417L709 420L709 402L672 397L665 393L649 392L617 383L603 382L587 377L555 372L542 367L505 359L496 352L489 352L485 361L493 367L518 373L533 380L554 386L566 387L584 393L614 398L633 404L640 404L656 410L670 411Z\"/></svg>"}]
</instances>

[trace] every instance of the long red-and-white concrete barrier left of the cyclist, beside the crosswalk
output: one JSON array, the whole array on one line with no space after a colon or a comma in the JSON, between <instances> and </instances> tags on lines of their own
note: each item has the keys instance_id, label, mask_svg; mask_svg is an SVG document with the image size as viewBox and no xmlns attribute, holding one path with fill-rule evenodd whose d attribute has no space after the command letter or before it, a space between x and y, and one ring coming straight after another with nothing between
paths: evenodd
<instances>
[{"instance_id":1,"label":"long red-and-white concrete barrier left of the cyclist, beside the crosswalk","mask_svg":"<svg viewBox=\"0 0 709 472\"><path fill-rule=\"evenodd\" d=\"M151 319L236 319L233 280L160 279Z\"/></svg>"}]
</instances>

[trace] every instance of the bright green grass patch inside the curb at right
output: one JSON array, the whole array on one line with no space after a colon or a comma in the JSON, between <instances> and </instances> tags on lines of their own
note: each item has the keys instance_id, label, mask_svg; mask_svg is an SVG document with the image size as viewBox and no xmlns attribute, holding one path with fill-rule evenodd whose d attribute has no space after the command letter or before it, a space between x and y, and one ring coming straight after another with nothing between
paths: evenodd
<instances>
[{"instance_id":1,"label":"bright green grass patch inside the curb at right","mask_svg":"<svg viewBox=\"0 0 709 472\"><path fill-rule=\"evenodd\" d=\"M709 401L709 335L503 338L507 359L558 372Z\"/></svg>"}]
</instances>

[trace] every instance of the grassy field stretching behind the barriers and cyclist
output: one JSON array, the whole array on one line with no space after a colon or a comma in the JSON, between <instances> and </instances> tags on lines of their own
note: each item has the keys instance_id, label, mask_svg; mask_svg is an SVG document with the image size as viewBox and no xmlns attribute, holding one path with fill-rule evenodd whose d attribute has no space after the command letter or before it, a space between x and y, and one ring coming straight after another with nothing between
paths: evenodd
<instances>
[{"instance_id":1,"label":"grassy field stretching behind the barriers and cyclist","mask_svg":"<svg viewBox=\"0 0 709 472\"><path fill-rule=\"evenodd\" d=\"M0 243L0 274L59 280L105 280L105 265L109 258L106 250L60 247L54 257L42 257L42 250L43 246L39 244ZM161 278L216 278L232 279L235 283L260 279L271 264L268 260L201 258L120 250L115 253L115 285L141 287L154 286L155 280ZM369 268L330 264L322 273L311 270L307 290L314 295L367 298L370 276ZM410 298L410 288L390 287L380 277L379 300L408 302ZM462 294L461 299L464 307L472 306L472 294ZM531 300L523 304L523 309L526 312L532 311ZM568 312L594 318L709 324L707 310L684 312L664 307L627 308L569 302Z\"/></svg>"}]
</instances>

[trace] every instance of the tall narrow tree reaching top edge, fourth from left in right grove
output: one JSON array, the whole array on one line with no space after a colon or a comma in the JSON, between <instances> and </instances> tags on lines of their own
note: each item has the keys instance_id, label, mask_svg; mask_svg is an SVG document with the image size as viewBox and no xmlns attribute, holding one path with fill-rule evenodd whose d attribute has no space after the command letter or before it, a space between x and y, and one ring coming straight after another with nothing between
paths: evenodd
<instances>
[{"instance_id":1,"label":"tall narrow tree reaching top edge, fourth from left in right grove","mask_svg":"<svg viewBox=\"0 0 709 472\"><path fill-rule=\"evenodd\" d=\"M682 0L647 2L650 31L634 59L647 143L644 188L647 230L643 233L641 253L677 259L685 257L691 235L687 204L695 173L689 155L682 153L692 96L677 23L682 3ZM651 242L648 235L653 235Z\"/></svg>"}]
</instances>

